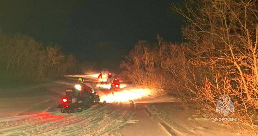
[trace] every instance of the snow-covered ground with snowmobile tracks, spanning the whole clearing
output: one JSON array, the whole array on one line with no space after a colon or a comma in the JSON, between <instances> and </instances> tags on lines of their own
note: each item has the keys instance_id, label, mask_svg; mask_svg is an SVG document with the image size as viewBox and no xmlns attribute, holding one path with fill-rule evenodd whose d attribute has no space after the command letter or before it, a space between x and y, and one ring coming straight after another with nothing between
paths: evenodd
<instances>
[{"instance_id":1,"label":"snow-covered ground with snowmobile tracks, spanning the whole clearing","mask_svg":"<svg viewBox=\"0 0 258 136\"><path fill-rule=\"evenodd\" d=\"M58 81L20 88L0 96L0 135L238 135L220 122L195 115L193 107L128 82L114 95L97 73L66 75ZM77 77L94 86L106 106L65 114L56 108ZM24 93L23 93L24 92ZM26 94L26 95L24 95Z\"/></svg>"}]
</instances>

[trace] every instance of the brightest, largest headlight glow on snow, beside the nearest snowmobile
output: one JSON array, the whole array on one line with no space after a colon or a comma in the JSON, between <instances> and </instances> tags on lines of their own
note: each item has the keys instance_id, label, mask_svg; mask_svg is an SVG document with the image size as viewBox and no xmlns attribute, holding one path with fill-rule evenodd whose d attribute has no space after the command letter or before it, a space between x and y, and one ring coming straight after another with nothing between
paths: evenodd
<instances>
[{"instance_id":1,"label":"brightest, largest headlight glow on snow, beside the nearest snowmobile","mask_svg":"<svg viewBox=\"0 0 258 136\"><path fill-rule=\"evenodd\" d=\"M107 96L101 96L101 101L105 100L106 102L114 102L114 101L124 102L128 100L139 99L150 93L151 93L150 89L127 89L127 90L114 92L114 95L109 94Z\"/></svg>"}]
</instances>

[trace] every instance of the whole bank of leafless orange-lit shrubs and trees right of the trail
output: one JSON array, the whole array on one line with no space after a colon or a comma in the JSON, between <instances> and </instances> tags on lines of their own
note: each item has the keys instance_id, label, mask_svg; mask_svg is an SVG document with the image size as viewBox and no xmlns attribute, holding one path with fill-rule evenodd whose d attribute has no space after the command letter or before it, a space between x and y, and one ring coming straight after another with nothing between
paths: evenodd
<instances>
[{"instance_id":1,"label":"whole bank of leafless orange-lit shrubs and trees right of the trail","mask_svg":"<svg viewBox=\"0 0 258 136\"><path fill-rule=\"evenodd\" d=\"M219 97L227 94L234 112L225 122L242 135L258 135L258 17L257 1L188 1L181 45L157 37L156 44L140 41L122 62L128 77L139 86L164 88L200 106L208 117Z\"/></svg>"}]
</instances>

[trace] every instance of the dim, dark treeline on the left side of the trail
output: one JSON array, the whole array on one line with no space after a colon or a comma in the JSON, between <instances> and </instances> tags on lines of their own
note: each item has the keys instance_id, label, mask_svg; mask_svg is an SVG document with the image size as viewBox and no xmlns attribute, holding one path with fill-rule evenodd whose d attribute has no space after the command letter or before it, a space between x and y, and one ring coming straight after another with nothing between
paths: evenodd
<instances>
[{"instance_id":1,"label":"dim, dark treeline on the left side of the trail","mask_svg":"<svg viewBox=\"0 0 258 136\"><path fill-rule=\"evenodd\" d=\"M23 34L0 33L0 84L42 81L92 68L64 55L55 44L44 45Z\"/></svg>"}]
</instances>

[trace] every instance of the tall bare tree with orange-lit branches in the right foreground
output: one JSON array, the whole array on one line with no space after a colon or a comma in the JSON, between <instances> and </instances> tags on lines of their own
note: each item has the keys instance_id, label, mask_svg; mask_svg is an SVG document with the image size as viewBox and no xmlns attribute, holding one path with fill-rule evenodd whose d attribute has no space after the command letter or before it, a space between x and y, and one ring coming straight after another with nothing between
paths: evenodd
<instances>
[{"instance_id":1,"label":"tall bare tree with orange-lit branches in the right foreground","mask_svg":"<svg viewBox=\"0 0 258 136\"><path fill-rule=\"evenodd\" d=\"M228 124L241 134L251 130L256 135L253 121L258 108L257 5L256 0L191 0L186 3L185 12L175 4L171 6L186 18L183 34L192 51L192 64L210 72L202 84L192 82L197 97L192 100L214 116L219 96L229 94L235 101L234 116L239 120Z\"/></svg>"}]
</instances>

